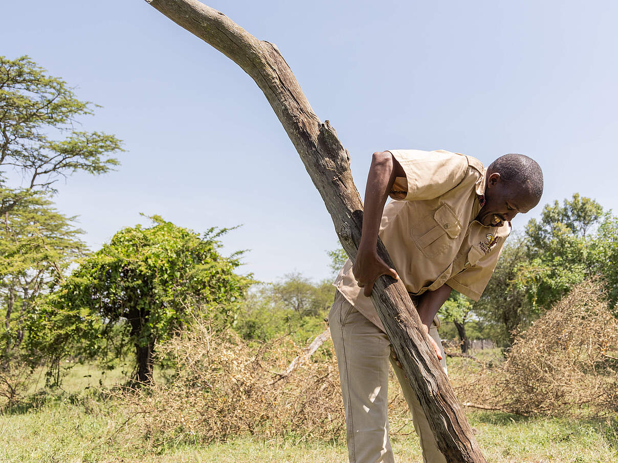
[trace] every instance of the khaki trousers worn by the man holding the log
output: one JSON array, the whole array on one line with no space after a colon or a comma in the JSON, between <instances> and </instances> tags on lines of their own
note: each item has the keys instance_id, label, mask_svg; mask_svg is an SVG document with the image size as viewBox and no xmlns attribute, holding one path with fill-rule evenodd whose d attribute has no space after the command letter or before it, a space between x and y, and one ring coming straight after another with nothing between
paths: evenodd
<instances>
[{"instance_id":1,"label":"khaki trousers worn by the man holding the log","mask_svg":"<svg viewBox=\"0 0 618 463\"><path fill-rule=\"evenodd\" d=\"M387 416L389 360L412 412L423 461L446 463L416 393L404 378L403 370L392 360L386 333L358 312L339 291L328 321L339 364L350 463L394 463ZM429 333L442 348L436 325L431 325ZM444 357L442 350L441 363L446 372Z\"/></svg>"}]
</instances>

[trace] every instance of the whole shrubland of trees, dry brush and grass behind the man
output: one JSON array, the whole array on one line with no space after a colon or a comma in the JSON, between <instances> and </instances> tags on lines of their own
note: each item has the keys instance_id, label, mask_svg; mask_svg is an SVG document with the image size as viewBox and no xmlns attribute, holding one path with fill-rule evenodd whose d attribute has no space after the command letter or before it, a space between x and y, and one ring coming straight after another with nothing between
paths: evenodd
<instances>
[{"instance_id":1,"label":"whole shrubland of trees, dry brush and grass behind the man","mask_svg":"<svg viewBox=\"0 0 618 463\"><path fill-rule=\"evenodd\" d=\"M106 172L120 141L72 130L95 106L27 57L0 58L0 104L0 461L343 460L332 344L302 355L328 327L333 275L255 282L242 252L221 254L226 229L158 216L88 250L53 181ZM488 461L616 461L617 230L590 198L548 204L480 301L442 307ZM347 257L328 253L337 272ZM392 375L389 396L397 457L418 458Z\"/></svg>"}]
</instances>

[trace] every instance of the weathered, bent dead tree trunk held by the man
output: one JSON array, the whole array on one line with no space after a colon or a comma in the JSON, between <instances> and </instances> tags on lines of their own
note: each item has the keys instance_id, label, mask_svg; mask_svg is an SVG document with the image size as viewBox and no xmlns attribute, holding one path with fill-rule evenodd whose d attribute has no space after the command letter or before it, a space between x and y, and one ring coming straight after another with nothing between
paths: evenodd
<instances>
[{"instance_id":1,"label":"weathered, bent dead tree trunk held by the man","mask_svg":"<svg viewBox=\"0 0 618 463\"><path fill-rule=\"evenodd\" d=\"M352 181L350 157L329 124L315 115L286 60L273 44L257 40L222 12L197 0L146 0L151 6L221 51L255 80L294 143L331 214L345 252L355 259L363 204ZM392 266L386 248L379 256ZM428 345L404 283L381 277L371 300L411 378L431 430L446 460L485 462L448 379Z\"/></svg>"}]
</instances>

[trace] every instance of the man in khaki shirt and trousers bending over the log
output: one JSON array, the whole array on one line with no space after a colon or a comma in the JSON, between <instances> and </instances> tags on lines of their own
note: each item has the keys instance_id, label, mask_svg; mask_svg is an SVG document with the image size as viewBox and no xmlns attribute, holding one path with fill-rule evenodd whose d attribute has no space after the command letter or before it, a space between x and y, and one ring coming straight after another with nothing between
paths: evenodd
<instances>
[{"instance_id":1,"label":"man in khaki shirt and trousers bending over the log","mask_svg":"<svg viewBox=\"0 0 618 463\"><path fill-rule=\"evenodd\" d=\"M357 259L339 272L328 315L350 463L394 462L387 419L389 359L412 412L423 461L446 462L368 298L375 280L391 275L404 282L446 372L438 309L451 290L478 301L509 236L510 220L535 207L541 193L541 168L522 154L501 156L487 169L473 157L448 151L373 154ZM387 196L394 201L385 207ZM378 257L378 236L395 269Z\"/></svg>"}]
</instances>

